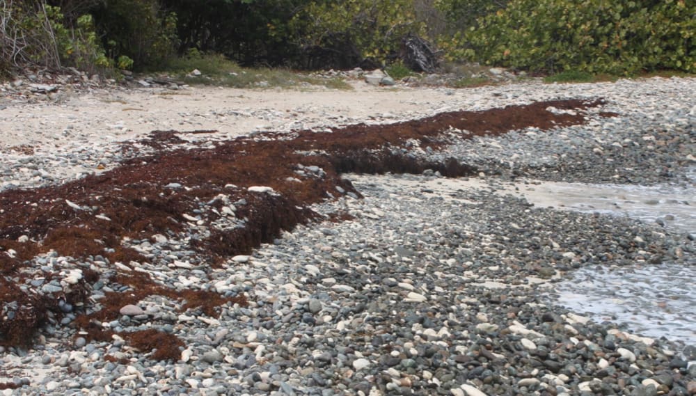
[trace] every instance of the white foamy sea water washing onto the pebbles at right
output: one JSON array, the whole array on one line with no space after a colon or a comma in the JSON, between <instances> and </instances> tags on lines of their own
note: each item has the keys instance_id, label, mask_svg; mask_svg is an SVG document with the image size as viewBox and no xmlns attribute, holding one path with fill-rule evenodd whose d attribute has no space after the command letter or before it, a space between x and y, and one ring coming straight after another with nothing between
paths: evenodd
<instances>
[{"instance_id":1,"label":"white foamy sea water washing onto the pebbles at right","mask_svg":"<svg viewBox=\"0 0 696 396\"><path fill-rule=\"evenodd\" d=\"M693 238L696 168L688 176L692 183L679 187L544 182L520 191L536 205L658 222L669 232ZM642 336L667 338L682 350L696 347L696 257L687 254L685 264L578 269L554 285L554 302L596 322L625 324Z\"/></svg>"}]
</instances>

